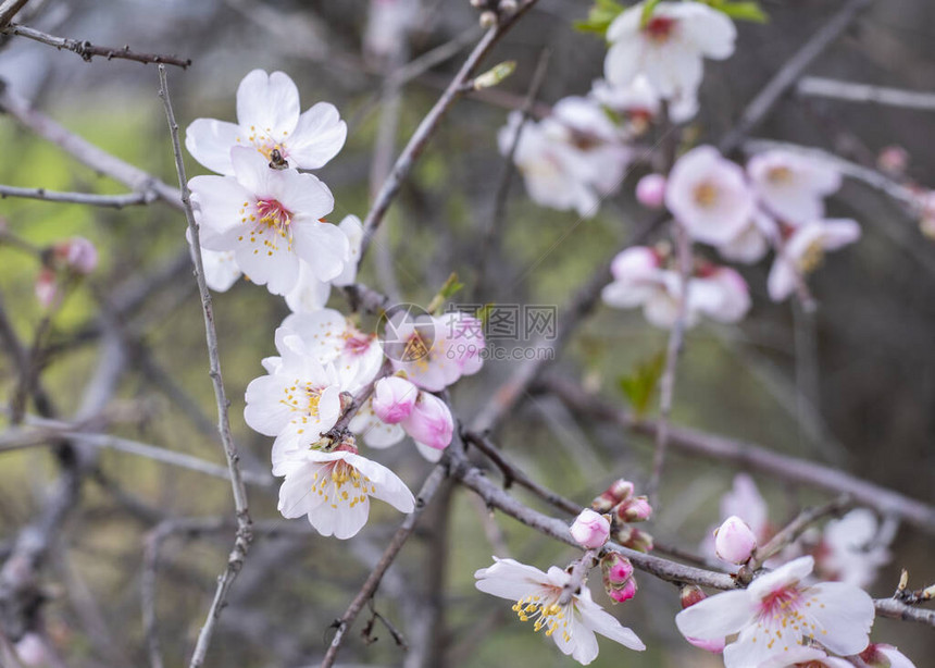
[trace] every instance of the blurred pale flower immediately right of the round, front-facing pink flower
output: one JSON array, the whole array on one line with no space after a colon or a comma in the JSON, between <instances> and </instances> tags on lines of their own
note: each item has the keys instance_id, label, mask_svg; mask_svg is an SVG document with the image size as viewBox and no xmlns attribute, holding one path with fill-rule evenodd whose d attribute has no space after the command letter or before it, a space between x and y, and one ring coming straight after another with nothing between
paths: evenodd
<instances>
[{"instance_id":1,"label":"blurred pale flower immediately right of the round, front-facing pink flower","mask_svg":"<svg viewBox=\"0 0 935 668\"><path fill-rule=\"evenodd\" d=\"M782 149L751 158L747 174L766 211L789 225L823 218L824 198L840 187L830 164Z\"/></svg>"}]
</instances>

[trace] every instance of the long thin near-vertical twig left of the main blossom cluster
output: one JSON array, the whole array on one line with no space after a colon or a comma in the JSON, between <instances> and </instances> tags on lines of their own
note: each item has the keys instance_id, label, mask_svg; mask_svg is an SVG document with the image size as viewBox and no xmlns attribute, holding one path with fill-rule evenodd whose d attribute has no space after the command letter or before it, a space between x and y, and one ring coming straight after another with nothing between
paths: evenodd
<instances>
[{"instance_id":1,"label":"long thin near-vertical twig left of the main blossom cluster","mask_svg":"<svg viewBox=\"0 0 935 668\"><path fill-rule=\"evenodd\" d=\"M169 96L169 85L165 78L165 65L159 65L159 96L165 107L165 117L169 122L169 132L172 135L172 150L175 153L175 169L178 173L178 186L182 190L182 205L185 218L188 222L188 231L191 235L191 259L195 263L195 280L198 282L198 292L201 295L201 309L204 314L204 334L208 344L208 359L210 362L211 382L214 386L214 397L217 400L217 431L221 434L221 443L224 445L224 455L227 458L227 469L230 472L230 486L234 492L234 507L237 517L237 533L234 547L227 557L227 567L217 579L217 590L214 601L208 611L208 619L198 634L198 642L191 655L190 667L196 668L204 663L208 647L214 634L214 628L221 617L221 611L227 598L227 592L234 584L237 573L244 566L247 553L250 551L252 531L250 510L247 505L247 485L240 472L240 456L237 454L237 445L230 433L230 421L227 416L227 395L224 392L224 380L221 375L221 356L217 351L217 332L214 329L214 309L211 304L211 293L204 280L204 264L201 259L201 240L198 234L198 223L195 221L195 212L191 210L188 180L185 176L185 164L182 159L182 145L178 140L178 125L175 122L175 112L172 110L172 100Z\"/></svg>"}]
</instances>

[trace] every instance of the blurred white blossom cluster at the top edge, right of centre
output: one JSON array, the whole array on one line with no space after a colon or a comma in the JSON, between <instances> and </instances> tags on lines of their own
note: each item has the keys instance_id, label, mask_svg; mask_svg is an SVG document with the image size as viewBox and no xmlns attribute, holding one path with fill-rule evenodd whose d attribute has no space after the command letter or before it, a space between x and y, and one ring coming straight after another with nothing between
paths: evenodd
<instances>
[{"instance_id":1,"label":"blurred white blossom cluster at the top edge, right of centre","mask_svg":"<svg viewBox=\"0 0 935 668\"><path fill-rule=\"evenodd\" d=\"M522 128L514 112L500 132L500 151L515 145L513 160L537 203L594 215L600 199L620 188L635 157L632 140L663 109L675 122L690 120L703 58L734 52L736 29L722 12L694 1L645 4L610 24L604 78L586 96L563 98Z\"/></svg>"}]
</instances>

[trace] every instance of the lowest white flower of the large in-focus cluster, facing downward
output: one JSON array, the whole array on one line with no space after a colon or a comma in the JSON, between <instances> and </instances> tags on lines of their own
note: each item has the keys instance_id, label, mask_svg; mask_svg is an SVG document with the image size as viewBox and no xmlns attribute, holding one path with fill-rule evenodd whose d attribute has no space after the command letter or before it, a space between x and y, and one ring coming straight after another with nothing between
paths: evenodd
<instances>
[{"instance_id":1,"label":"lowest white flower of the large in-focus cluster, facing downward","mask_svg":"<svg viewBox=\"0 0 935 668\"><path fill-rule=\"evenodd\" d=\"M279 487L283 517L308 516L322 535L349 539L366 523L370 497L400 512L412 512L415 498L392 471L340 449L295 450L273 461L273 474L285 475Z\"/></svg>"}]
</instances>

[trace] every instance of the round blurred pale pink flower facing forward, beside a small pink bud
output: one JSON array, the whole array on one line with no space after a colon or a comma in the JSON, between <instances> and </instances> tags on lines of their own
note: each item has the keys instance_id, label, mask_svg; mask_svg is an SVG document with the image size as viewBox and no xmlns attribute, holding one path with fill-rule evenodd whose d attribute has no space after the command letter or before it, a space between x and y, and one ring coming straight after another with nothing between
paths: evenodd
<instances>
[{"instance_id":1,"label":"round blurred pale pink flower facing forward, beside a small pink bud","mask_svg":"<svg viewBox=\"0 0 935 668\"><path fill-rule=\"evenodd\" d=\"M712 246L736 238L753 214L744 171L710 146L678 159L669 175L665 205L694 239Z\"/></svg>"}]
</instances>

